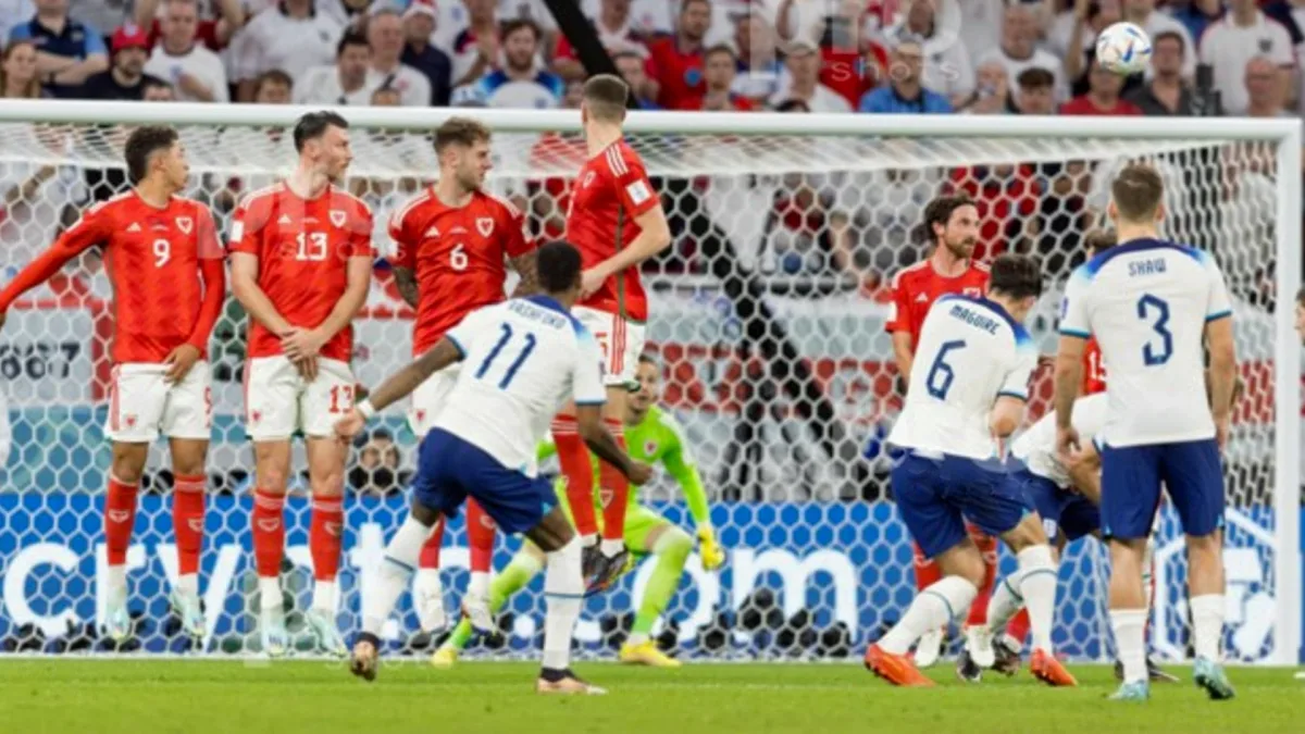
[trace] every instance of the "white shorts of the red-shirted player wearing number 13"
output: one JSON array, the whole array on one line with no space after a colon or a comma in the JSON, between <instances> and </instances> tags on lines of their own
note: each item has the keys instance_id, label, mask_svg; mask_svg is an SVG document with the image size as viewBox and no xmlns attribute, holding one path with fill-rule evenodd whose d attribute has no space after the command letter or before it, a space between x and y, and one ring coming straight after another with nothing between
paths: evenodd
<instances>
[{"instance_id":1,"label":"white shorts of the red-shirted player wearing number 13","mask_svg":"<svg viewBox=\"0 0 1305 734\"><path fill-rule=\"evenodd\" d=\"M331 436L335 421L354 407L354 371L338 359L318 359L317 379L304 383L283 355L245 364L245 434L254 441Z\"/></svg>"}]
</instances>

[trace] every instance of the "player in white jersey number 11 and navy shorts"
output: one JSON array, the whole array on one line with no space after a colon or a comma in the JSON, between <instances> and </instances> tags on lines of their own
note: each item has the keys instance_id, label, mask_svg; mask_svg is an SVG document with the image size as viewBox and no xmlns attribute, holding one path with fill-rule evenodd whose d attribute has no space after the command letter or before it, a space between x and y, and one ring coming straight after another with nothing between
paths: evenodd
<instances>
[{"instance_id":1,"label":"player in white jersey number 11 and navy shorts","mask_svg":"<svg viewBox=\"0 0 1305 734\"><path fill-rule=\"evenodd\" d=\"M412 511L385 547L376 590L363 602L363 632L351 665L355 675L376 677L381 628L407 588L432 526L474 496L505 533L525 533L548 554L548 614L536 691L604 692L569 669L572 631L585 593L581 545L552 487L538 474L535 447L557 407L570 400L594 453L636 483L646 482L651 471L621 452L603 427L602 355L589 330L569 313L579 298L579 252L561 242L545 244L538 253L538 273L543 295L472 312L337 424L342 436L352 436L376 411L432 374L466 362L422 441Z\"/></svg>"}]
</instances>

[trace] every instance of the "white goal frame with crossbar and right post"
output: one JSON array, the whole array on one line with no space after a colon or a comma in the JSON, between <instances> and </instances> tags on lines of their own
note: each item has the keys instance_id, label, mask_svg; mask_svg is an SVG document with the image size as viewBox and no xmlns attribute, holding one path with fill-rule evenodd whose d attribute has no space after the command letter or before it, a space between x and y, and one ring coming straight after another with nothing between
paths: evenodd
<instances>
[{"instance_id":1,"label":"white goal frame with crossbar and right post","mask_svg":"<svg viewBox=\"0 0 1305 734\"><path fill-rule=\"evenodd\" d=\"M322 107L76 102L7 99L0 104L0 124L175 124L175 125L292 125L300 115ZM338 107L351 124L393 131L431 129L450 116L471 116L496 132L578 131L576 111ZM1034 118L984 115L788 115L774 112L630 112L630 133L810 136L902 138L1090 138L1248 141L1276 146L1278 171L1301 167L1300 120L1253 120L1235 118ZM0 155L3 155L0 150ZM432 175L435 172L432 171ZM1275 597L1276 645L1272 662L1296 665L1301 648L1301 347L1293 329L1292 303L1301 285L1301 178L1280 175L1276 187L1276 293L1275 381Z\"/></svg>"}]
</instances>

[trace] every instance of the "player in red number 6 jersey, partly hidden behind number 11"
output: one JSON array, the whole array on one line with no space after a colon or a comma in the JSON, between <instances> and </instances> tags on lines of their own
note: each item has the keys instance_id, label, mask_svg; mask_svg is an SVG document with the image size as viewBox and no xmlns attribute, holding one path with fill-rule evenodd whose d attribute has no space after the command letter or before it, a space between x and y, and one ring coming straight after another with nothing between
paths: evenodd
<instances>
[{"instance_id":1,"label":"player in red number 6 jersey, partly hidden behind number 11","mask_svg":"<svg viewBox=\"0 0 1305 734\"><path fill-rule=\"evenodd\" d=\"M440 180L398 209L389 223L398 246L394 282L416 310L414 357L435 346L467 313L502 300L508 278L504 261L521 276L515 295L535 291L534 247L526 239L521 210L482 191L491 167L489 129L468 118L450 118L435 131L435 154ZM458 366L453 364L412 392L408 426L418 439L425 438L457 380ZM467 537L471 584L466 609L483 630L492 626L488 593L495 526L475 500L467 502ZM442 542L441 521L422 550L412 585L418 618L428 633L442 630L446 620L440 582Z\"/></svg>"}]
</instances>

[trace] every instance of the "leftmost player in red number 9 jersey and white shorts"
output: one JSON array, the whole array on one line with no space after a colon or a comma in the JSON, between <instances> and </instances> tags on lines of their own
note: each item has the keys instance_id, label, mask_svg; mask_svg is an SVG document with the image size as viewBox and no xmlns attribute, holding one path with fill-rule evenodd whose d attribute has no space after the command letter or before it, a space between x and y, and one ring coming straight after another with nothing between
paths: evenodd
<instances>
[{"instance_id":1,"label":"leftmost player in red number 9 jersey and white shorts","mask_svg":"<svg viewBox=\"0 0 1305 734\"><path fill-rule=\"evenodd\" d=\"M134 129L125 158L132 191L87 209L14 277L0 293L0 325L20 295L87 248L103 248L114 286L114 371L104 430L114 452L104 498L104 628L115 643L132 633L127 549L149 448L162 434L168 438L174 475L177 580L171 602L185 632L198 641L205 635L198 581L204 460L213 418L204 355L226 298L224 253L209 209L176 196L191 168L175 129Z\"/></svg>"}]
</instances>

